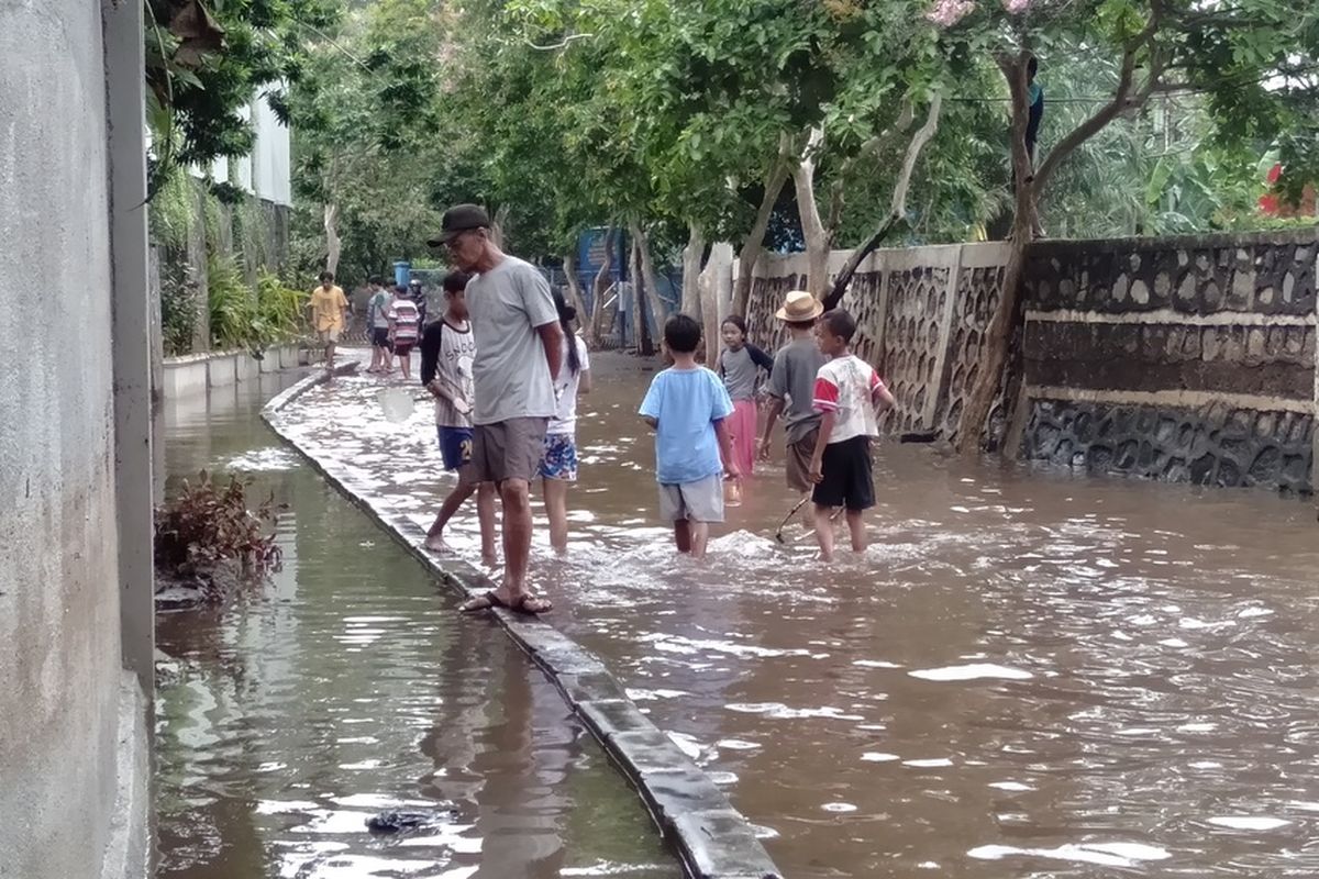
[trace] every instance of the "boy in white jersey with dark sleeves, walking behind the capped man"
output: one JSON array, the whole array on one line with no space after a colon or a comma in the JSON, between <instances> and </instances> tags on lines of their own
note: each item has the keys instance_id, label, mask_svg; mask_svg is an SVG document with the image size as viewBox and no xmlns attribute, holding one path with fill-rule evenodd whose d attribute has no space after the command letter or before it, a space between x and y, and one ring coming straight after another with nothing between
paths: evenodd
<instances>
[{"instance_id":1,"label":"boy in white jersey with dark sleeves, walking behind the capped man","mask_svg":"<svg viewBox=\"0 0 1319 879\"><path fill-rule=\"evenodd\" d=\"M445 469L458 472L458 485L445 498L434 525L426 532L426 548L448 552L445 526L463 501L476 492L476 517L481 528L481 561L495 564L495 484L477 482L472 474L472 360L476 341L467 322L467 275L445 275L445 315L426 327L421 340L421 382L435 398L435 428Z\"/></svg>"}]
</instances>

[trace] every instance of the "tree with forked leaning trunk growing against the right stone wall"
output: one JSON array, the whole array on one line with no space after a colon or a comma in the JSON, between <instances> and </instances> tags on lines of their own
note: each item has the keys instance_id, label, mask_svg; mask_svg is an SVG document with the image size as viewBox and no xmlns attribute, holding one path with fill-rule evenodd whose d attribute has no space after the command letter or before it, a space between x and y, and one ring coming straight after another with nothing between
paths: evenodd
<instances>
[{"instance_id":1,"label":"tree with forked leaning trunk growing against the right stone wall","mask_svg":"<svg viewBox=\"0 0 1319 879\"><path fill-rule=\"evenodd\" d=\"M1298 16L1277 0L1240 0L1203 5L1191 0L1006 0L998 7L973 0L936 0L931 20L946 40L969 57L992 59L1010 96L1010 148L1014 181L1013 246L1002 295L987 331L985 354L963 412L959 444L980 445L1013 328L1021 322L1021 270L1038 228L1038 203L1059 169L1087 141L1120 116L1144 107L1166 90L1204 94L1224 138L1279 136L1297 130L1298 95L1270 88L1286 78L1297 58L1315 58L1315 12ZM1026 152L1030 59L1053 47L1086 47L1113 59L1116 83L1075 128L1035 163ZM1281 124L1290 123L1282 129ZM1272 129L1272 130L1270 130Z\"/></svg>"}]
</instances>

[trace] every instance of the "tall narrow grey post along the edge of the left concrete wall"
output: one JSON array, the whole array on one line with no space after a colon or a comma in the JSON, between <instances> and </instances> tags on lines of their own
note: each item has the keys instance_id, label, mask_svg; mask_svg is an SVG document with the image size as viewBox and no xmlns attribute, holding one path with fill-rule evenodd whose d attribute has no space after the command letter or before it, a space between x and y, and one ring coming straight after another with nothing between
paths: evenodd
<instances>
[{"instance_id":1,"label":"tall narrow grey post along the edge of the left concrete wall","mask_svg":"<svg viewBox=\"0 0 1319 879\"><path fill-rule=\"evenodd\" d=\"M102 0L109 153L111 351L115 372L115 506L124 666L148 717L154 689L152 564L152 356L146 257L146 87L142 4ZM150 729L150 725L148 725Z\"/></svg>"}]
</instances>

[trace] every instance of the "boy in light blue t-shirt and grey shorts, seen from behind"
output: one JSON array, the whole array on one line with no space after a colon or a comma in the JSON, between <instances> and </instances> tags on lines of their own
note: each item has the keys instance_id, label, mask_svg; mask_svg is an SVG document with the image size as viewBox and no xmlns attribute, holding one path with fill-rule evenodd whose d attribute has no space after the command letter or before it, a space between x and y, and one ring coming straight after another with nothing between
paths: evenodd
<instances>
[{"instance_id":1,"label":"boy in light blue t-shirt and grey shorts, seen from behind","mask_svg":"<svg viewBox=\"0 0 1319 879\"><path fill-rule=\"evenodd\" d=\"M660 517L673 522L678 552L703 559L710 523L724 521L723 478L740 476L725 423L733 403L719 376L696 364L699 323L669 318L663 344L673 366L650 382L640 412L656 431Z\"/></svg>"}]
</instances>

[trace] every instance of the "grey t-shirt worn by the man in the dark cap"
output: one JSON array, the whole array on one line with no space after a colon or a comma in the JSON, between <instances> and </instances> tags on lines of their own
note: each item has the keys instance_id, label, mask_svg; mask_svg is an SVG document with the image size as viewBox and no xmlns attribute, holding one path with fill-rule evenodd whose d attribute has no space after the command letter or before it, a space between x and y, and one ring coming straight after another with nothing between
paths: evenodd
<instances>
[{"instance_id":1,"label":"grey t-shirt worn by the man in the dark cap","mask_svg":"<svg viewBox=\"0 0 1319 879\"><path fill-rule=\"evenodd\" d=\"M505 256L467 283L467 310L476 341L472 422L554 415L550 365L536 332L559 319L545 275L532 264Z\"/></svg>"}]
</instances>

